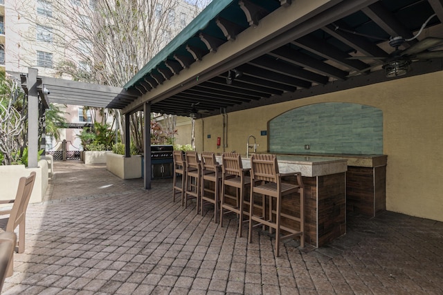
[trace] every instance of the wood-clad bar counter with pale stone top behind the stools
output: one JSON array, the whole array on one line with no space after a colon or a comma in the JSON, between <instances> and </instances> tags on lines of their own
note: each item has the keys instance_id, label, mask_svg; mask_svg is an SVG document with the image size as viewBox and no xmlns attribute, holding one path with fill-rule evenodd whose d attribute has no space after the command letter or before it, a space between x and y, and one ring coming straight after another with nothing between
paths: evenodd
<instances>
[{"instance_id":1,"label":"wood-clad bar counter with pale stone top behind the stools","mask_svg":"<svg viewBox=\"0 0 443 295\"><path fill-rule=\"evenodd\" d=\"M216 158L221 163L221 155ZM277 160L280 173L302 173L305 184L305 242L321 247L345 234L347 159L277 155ZM242 156L242 163L244 168L251 168L251 160L246 156ZM297 199L283 198L284 213L298 211ZM284 220L282 223L285 223Z\"/></svg>"}]
</instances>

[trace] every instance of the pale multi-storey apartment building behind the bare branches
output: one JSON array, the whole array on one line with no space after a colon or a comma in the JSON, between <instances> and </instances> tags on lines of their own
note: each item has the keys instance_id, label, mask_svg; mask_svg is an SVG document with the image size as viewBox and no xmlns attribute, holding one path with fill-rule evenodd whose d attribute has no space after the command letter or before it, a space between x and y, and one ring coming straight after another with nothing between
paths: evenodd
<instances>
[{"instance_id":1,"label":"pale multi-storey apartment building behind the bare branches","mask_svg":"<svg viewBox=\"0 0 443 295\"><path fill-rule=\"evenodd\" d=\"M137 32L134 32L134 41L123 42L117 36L114 39L105 37L107 39L101 44L94 43L103 33L103 28L111 28L106 31L107 35L113 33L114 27L126 29L123 26L125 21L113 17L118 9L125 12L125 8L120 6L128 6L129 10L134 11L143 10L140 15L134 12L132 17L141 28L146 28L147 23L152 26L148 33L154 39L147 41L150 50L142 57L128 58L130 54L125 52L128 47L145 47L145 44L136 44L143 40L137 37ZM109 11L103 12L102 8L105 7ZM136 0L124 3L109 0L9 0L5 3L5 0L0 0L0 68L15 77L28 73L28 68L33 67L42 76L80 80L88 75L100 75L98 64L102 68L120 67L123 69L121 73L128 67L139 69L185 28L199 10L201 8L183 0ZM109 13L109 17L103 17L106 13ZM158 25L155 26L155 23ZM73 69L80 75L73 75ZM132 75L134 73L129 73L128 77ZM121 86L128 79L123 76L120 81L99 79L99 82ZM89 82L87 79L84 81ZM97 82L97 79L91 81ZM51 95L49 97L51 99ZM82 126L93 118L98 121L102 118L98 111L93 110L88 110L85 115L83 107L75 104L66 108L62 106L62 109L66 111L70 128L62 129L60 140L69 142L70 150L81 150L77 135ZM53 138L47 138L46 142L47 149L60 146L60 141Z\"/></svg>"}]
</instances>

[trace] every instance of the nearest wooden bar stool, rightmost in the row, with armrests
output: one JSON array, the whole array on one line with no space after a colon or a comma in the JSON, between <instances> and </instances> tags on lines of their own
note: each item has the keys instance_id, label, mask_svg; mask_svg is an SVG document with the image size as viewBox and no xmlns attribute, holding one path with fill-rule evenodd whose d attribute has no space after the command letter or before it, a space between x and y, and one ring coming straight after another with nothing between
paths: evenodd
<instances>
[{"instance_id":1,"label":"nearest wooden bar stool, rightmost in the row, with armrests","mask_svg":"<svg viewBox=\"0 0 443 295\"><path fill-rule=\"evenodd\" d=\"M298 184L289 184L282 182L283 177L296 176ZM252 242L253 222L257 225L269 227L269 232L275 229L275 256L280 256L280 240L294 238L300 236L300 247L305 247L305 238L303 235L305 227L304 216L304 186L300 172L278 173L278 163L275 155L251 155L251 201L249 204L249 242ZM268 213L266 220L265 207L263 206L261 215L256 215L253 211L256 196L255 193L262 195L262 204L265 204L264 197L269 197ZM292 196L294 193L299 194L300 198L300 217L296 217L287 213L282 213L282 197ZM275 209L274 209L275 204ZM281 224L281 218L286 218L288 223L298 223L296 226L289 227ZM289 234L280 237L280 230Z\"/></svg>"}]
</instances>

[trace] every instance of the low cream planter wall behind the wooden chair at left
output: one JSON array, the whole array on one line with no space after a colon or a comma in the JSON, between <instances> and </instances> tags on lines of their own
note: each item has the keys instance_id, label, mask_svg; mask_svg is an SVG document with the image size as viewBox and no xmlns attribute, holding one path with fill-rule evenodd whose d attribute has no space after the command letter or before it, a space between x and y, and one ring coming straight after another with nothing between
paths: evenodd
<instances>
[{"instance_id":1,"label":"low cream planter wall behind the wooden chair at left","mask_svg":"<svg viewBox=\"0 0 443 295\"><path fill-rule=\"evenodd\" d=\"M35 175L33 193L30 195L30 203L42 202L43 196L48 188L48 161L39 160L38 168L26 168L25 165L0 166L0 200L15 199L19 179L22 176L28 177L32 171Z\"/></svg>"}]
</instances>

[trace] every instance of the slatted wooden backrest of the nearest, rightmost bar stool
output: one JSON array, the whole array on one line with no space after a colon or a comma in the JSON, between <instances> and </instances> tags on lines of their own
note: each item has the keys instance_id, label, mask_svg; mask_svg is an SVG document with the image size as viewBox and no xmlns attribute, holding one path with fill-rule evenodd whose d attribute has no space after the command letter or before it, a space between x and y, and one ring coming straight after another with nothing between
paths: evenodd
<instances>
[{"instance_id":1,"label":"slatted wooden backrest of the nearest, rightmost bar stool","mask_svg":"<svg viewBox=\"0 0 443 295\"><path fill-rule=\"evenodd\" d=\"M269 154L251 155L251 178L267 182L278 182L277 157Z\"/></svg>"}]
</instances>

